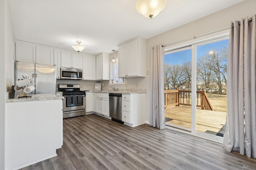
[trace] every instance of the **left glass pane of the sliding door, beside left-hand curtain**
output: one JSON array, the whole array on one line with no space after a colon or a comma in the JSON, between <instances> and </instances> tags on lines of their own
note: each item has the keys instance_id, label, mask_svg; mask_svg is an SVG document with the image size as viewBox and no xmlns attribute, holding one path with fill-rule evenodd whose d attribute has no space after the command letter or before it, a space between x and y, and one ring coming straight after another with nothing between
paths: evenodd
<instances>
[{"instance_id":1,"label":"left glass pane of the sliding door, beside left-hand curtain","mask_svg":"<svg viewBox=\"0 0 256 170\"><path fill-rule=\"evenodd\" d=\"M190 47L172 50L165 55L165 120L180 129L191 131L191 61Z\"/></svg>"}]
</instances>

